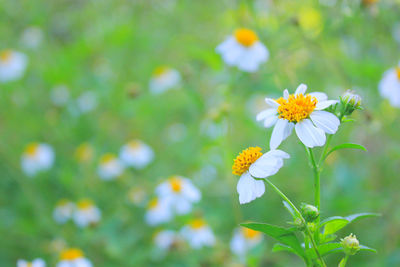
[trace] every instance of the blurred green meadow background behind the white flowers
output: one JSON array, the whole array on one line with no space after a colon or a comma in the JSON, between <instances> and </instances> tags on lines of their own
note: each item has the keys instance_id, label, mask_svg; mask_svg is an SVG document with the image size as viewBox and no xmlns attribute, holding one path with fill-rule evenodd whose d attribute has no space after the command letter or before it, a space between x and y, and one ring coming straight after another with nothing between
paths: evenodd
<instances>
[{"instance_id":1,"label":"blurred green meadow background behind the white flowers","mask_svg":"<svg viewBox=\"0 0 400 267\"><path fill-rule=\"evenodd\" d=\"M383 72L400 60L392 34L399 14L400 2L389 0L1 0L0 49L26 53L29 64L22 79L0 85L0 265L42 257L54 266L57 244L65 242L81 248L94 266L240 266L229 250L239 223L284 225L290 217L268 187L262 198L239 205L232 160L248 146L268 148L271 130L255 122L254 107L265 96L306 83L332 99L355 89L365 108L354 114L356 122L340 127L333 144L359 143L368 153L342 150L329 159L321 181L322 217L382 213L339 233L354 233L378 250L357 254L349 266L400 266L400 111L377 89ZM27 49L20 37L32 25L44 37ZM254 29L270 51L255 74L226 67L215 53L238 27ZM181 72L180 89L148 92L159 65ZM98 107L81 116L55 107L50 91L59 84L68 86L72 98L95 92ZM221 133L207 134L209 124ZM171 134L174 125L183 129L178 138ZM132 138L149 144L155 161L116 181L100 180L99 157L118 153ZM29 179L20 157L32 141L51 144L56 160L51 170ZM95 153L79 164L74 153L83 142ZM296 203L312 203L312 172L302 146L292 135L282 150L292 157L272 181ZM193 214L203 215L217 243L198 251L183 245L161 257L151 241L155 228L144 222L145 209L127 195L140 186L151 196L173 174L192 178L203 198L191 215L164 228L179 229ZM96 227L53 221L60 198L83 197L102 211ZM292 255L271 252L274 243L265 238L248 264L302 266ZM336 266L340 256L329 256L328 266Z\"/></svg>"}]
</instances>

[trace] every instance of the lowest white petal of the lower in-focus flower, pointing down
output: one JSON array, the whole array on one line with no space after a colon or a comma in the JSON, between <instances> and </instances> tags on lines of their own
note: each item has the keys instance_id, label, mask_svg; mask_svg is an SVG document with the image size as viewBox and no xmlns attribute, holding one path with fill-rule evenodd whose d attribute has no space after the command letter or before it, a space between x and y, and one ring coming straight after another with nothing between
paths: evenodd
<instances>
[{"instance_id":1,"label":"lowest white petal of the lower in-focus flower, pointing down","mask_svg":"<svg viewBox=\"0 0 400 267\"><path fill-rule=\"evenodd\" d=\"M242 174L237 184L240 204L249 203L254 199L261 197L265 192L263 181L255 180L248 172Z\"/></svg>"}]
</instances>

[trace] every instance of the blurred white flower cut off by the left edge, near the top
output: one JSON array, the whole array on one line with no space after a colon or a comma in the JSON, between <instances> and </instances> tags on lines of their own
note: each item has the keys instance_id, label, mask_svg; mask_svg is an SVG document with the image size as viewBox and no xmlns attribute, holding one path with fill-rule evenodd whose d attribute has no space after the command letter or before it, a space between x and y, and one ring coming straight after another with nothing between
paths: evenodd
<instances>
[{"instance_id":1,"label":"blurred white flower cut off by the left edge, near the top","mask_svg":"<svg viewBox=\"0 0 400 267\"><path fill-rule=\"evenodd\" d=\"M0 51L0 82L15 81L22 77L28 64L27 57L17 51Z\"/></svg>"}]
</instances>

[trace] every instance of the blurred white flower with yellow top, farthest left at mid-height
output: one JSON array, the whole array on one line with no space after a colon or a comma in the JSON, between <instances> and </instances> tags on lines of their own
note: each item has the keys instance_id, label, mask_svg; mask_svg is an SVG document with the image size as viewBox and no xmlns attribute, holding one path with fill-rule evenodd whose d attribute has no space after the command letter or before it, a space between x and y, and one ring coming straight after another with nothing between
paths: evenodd
<instances>
[{"instance_id":1,"label":"blurred white flower with yellow top, farthest left at mid-height","mask_svg":"<svg viewBox=\"0 0 400 267\"><path fill-rule=\"evenodd\" d=\"M54 151L48 144L30 143L21 157L22 170L28 176L51 168L54 162Z\"/></svg>"}]
</instances>

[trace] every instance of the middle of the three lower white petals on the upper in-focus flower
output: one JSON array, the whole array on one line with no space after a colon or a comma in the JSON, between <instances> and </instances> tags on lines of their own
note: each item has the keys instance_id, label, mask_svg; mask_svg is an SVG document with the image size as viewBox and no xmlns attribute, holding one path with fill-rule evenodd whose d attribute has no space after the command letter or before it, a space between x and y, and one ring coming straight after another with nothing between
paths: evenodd
<instances>
[{"instance_id":1,"label":"middle of the three lower white petals on the upper in-focus flower","mask_svg":"<svg viewBox=\"0 0 400 267\"><path fill-rule=\"evenodd\" d=\"M323 146L326 136L323 130L315 127L311 120L305 119L295 126L296 134L300 141L307 147Z\"/></svg>"}]
</instances>

